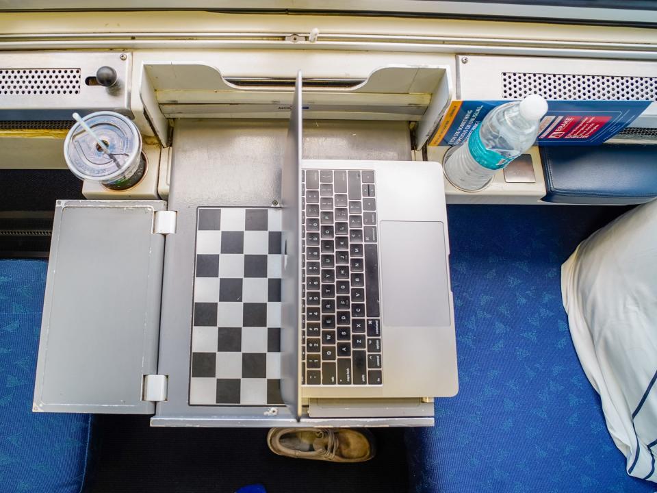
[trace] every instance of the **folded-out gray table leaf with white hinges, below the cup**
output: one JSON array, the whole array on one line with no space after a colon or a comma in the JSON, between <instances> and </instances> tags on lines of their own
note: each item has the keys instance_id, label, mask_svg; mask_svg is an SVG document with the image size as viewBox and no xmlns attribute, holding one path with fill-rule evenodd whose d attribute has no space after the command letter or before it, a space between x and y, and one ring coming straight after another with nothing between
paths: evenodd
<instances>
[{"instance_id":1,"label":"folded-out gray table leaf with white hinges, below the cup","mask_svg":"<svg viewBox=\"0 0 657 493\"><path fill-rule=\"evenodd\" d=\"M34 411L152 414L142 375L157 372L163 201L58 201Z\"/></svg>"}]
</instances>

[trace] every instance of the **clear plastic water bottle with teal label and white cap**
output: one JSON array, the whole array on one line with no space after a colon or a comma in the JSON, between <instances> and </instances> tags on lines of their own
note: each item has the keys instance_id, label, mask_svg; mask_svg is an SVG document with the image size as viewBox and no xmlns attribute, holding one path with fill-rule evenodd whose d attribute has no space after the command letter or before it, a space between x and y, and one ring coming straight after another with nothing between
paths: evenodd
<instances>
[{"instance_id":1,"label":"clear plastic water bottle with teal label and white cap","mask_svg":"<svg viewBox=\"0 0 657 493\"><path fill-rule=\"evenodd\" d=\"M537 94L493 108L467 142L444 164L447 179L467 192L481 190L504 168L532 147L548 102Z\"/></svg>"}]
</instances>

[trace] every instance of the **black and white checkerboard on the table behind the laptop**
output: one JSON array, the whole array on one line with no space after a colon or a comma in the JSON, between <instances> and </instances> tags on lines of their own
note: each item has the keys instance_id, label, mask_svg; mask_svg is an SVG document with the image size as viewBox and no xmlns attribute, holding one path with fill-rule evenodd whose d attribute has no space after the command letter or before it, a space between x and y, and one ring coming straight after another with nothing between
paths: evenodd
<instances>
[{"instance_id":1,"label":"black and white checkerboard on the table behind the laptop","mask_svg":"<svg viewBox=\"0 0 657 493\"><path fill-rule=\"evenodd\" d=\"M281 210L199 207L190 405L283 405Z\"/></svg>"}]
</instances>

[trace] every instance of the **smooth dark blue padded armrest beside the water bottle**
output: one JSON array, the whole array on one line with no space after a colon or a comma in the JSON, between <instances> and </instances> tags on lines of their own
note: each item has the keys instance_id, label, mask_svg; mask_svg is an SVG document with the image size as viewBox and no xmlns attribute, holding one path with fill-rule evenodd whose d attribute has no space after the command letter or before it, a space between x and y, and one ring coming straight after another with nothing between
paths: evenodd
<instances>
[{"instance_id":1,"label":"smooth dark blue padded armrest beside the water bottle","mask_svg":"<svg viewBox=\"0 0 657 493\"><path fill-rule=\"evenodd\" d=\"M638 204L657 197L652 145L541 147L545 202Z\"/></svg>"}]
</instances>

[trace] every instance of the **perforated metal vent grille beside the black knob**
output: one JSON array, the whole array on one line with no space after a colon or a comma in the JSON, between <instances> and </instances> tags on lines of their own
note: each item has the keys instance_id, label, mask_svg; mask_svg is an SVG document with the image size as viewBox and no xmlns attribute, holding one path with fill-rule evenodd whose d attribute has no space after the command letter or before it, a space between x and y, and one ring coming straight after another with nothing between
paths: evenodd
<instances>
[{"instance_id":1,"label":"perforated metal vent grille beside the black knob","mask_svg":"<svg viewBox=\"0 0 657 493\"><path fill-rule=\"evenodd\" d=\"M79 94L79 68L0 68L0 94Z\"/></svg>"}]
</instances>

